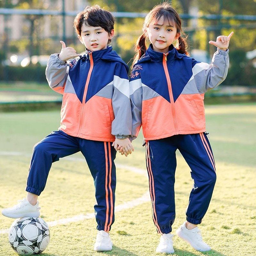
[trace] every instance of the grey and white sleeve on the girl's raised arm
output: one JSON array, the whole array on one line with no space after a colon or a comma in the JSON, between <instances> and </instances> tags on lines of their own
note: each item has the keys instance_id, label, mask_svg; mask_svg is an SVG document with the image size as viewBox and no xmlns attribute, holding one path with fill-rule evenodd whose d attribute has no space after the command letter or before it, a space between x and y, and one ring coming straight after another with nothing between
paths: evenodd
<instances>
[{"instance_id":1,"label":"grey and white sleeve on the girl's raised arm","mask_svg":"<svg viewBox=\"0 0 256 256\"><path fill-rule=\"evenodd\" d=\"M221 84L227 77L229 50L218 50L213 54L212 63L199 62L192 68L193 77L199 93L205 93Z\"/></svg>"}]
</instances>

